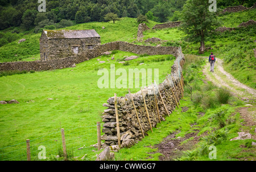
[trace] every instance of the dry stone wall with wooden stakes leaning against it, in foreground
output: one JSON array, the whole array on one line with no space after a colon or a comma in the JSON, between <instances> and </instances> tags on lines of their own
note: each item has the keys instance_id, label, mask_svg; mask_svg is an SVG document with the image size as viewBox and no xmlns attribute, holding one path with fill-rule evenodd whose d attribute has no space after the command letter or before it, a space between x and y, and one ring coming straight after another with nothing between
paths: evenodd
<instances>
[{"instance_id":1,"label":"dry stone wall with wooden stakes leaning against it, in foreground","mask_svg":"<svg viewBox=\"0 0 256 172\"><path fill-rule=\"evenodd\" d=\"M174 85L170 85L167 79L158 85L158 89L160 94L162 95L164 104L168 110L168 114L171 114L176 107L175 97L172 92L175 93L175 96L181 98L182 89L179 85L179 77L176 77L176 72L178 75L181 73L180 63L184 62L184 55L181 51L181 48L176 49L175 53L176 61L172 66L171 76L172 81L177 85L176 89ZM180 75L181 77L181 75ZM154 88L155 89L155 88ZM152 94L153 86L150 85L142 89L148 113L150 115L151 126L155 127L157 123L159 123L159 117L156 109L154 94ZM160 99L159 92L156 94L156 101L158 102L158 109L160 114L160 121L165 121L167 116L167 112L164 108L163 102ZM176 94L177 93L177 94ZM144 106L143 97L141 91L131 94L134 100L135 108L137 109L139 120L141 122L142 130L146 135L146 131L150 129L150 123L148 122L146 109ZM177 98L177 97L176 97ZM102 116L102 122L104 122L104 128L102 132L104 135L101 136L102 140L105 140L105 144L108 145L117 145L118 137L117 137L117 122L115 120L115 108L114 108L114 97L110 97L107 101L108 103L103 106L107 107ZM129 94L126 94L125 97L117 97L117 107L118 107L118 118L119 118L119 128L121 135L121 148L123 147L131 147L138 140L143 139L143 135L141 132L141 128L139 126L139 122L137 119L137 115L135 113L135 109L133 108L133 104L131 102L131 98Z\"/></svg>"}]
</instances>

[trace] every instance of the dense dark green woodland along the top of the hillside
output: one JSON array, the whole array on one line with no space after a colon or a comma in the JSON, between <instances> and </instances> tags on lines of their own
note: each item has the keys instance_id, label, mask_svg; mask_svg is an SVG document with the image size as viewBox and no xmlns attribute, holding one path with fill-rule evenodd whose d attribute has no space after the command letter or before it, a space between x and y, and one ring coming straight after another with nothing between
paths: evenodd
<instances>
[{"instance_id":1,"label":"dense dark green woodland along the top of the hillside","mask_svg":"<svg viewBox=\"0 0 256 172\"><path fill-rule=\"evenodd\" d=\"M137 18L146 15L148 19L166 22L180 19L180 11L186 0L46 0L46 12L39 12L38 0L0 0L0 29L22 27L35 29L47 26L54 29L72 23L104 21L104 16L113 12L119 18ZM218 8L243 5L252 6L254 0L220 0ZM72 22L71 22L72 21Z\"/></svg>"}]
</instances>

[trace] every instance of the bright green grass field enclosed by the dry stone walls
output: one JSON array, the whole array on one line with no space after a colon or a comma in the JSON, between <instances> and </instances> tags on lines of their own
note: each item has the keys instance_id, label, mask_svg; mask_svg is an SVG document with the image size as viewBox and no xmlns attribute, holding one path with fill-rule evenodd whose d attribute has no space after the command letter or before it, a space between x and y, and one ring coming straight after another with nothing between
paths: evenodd
<instances>
[{"instance_id":1,"label":"bright green grass field enclosed by the dry stone walls","mask_svg":"<svg viewBox=\"0 0 256 172\"><path fill-rule=\"evenodd\" d=\"M75 132L79 132L79 134L85 135L85 137L75 142L72 141L75 147L82 147L83 145L88 147L91 144L96 144L96 123L98 121L101 122L101 113L106 109L102 104L109 97L113 97L114 93L117 93L118 96L124 96L128 93L126 88L98 88L97 81L101 77L97 75L98 69L106 68L110 71L110 65L114 64L115 71L118 68L124 68L128 73L129 68L138 68L139 70L141 68L146 70L147 68L152 68L154 74L154 68L157 68L159 69L159 82L162 82L167 72L171 72L170 67L174 63L174 60L169 61L166 59L170 59L170 57L175 59L172 55L154 55L140 57L130 62L129 66L124 66L118 63L118 61L123 59L125 55L135 54L117 51L114 55L115 61L111 61L111 57L99 57L101 61L107 62L104 64L98 63L97 58L94 58L77 64L76 68L1 77L1 100L15 99L20 104L0 106L0 148L22 143L26 139L33 140L60 131L60 125L67 130L81 127L76 129ZM138 65L141 62L144 62L144 65ZM115 80L118 78L119 76L116 76ZM140 78L141 80L142 78ZM152 81L154 81L154 75ZM139 88L131 89L133 93L138 91ZM48 98L53 98L53 100L48 100ZM80 131L84 129L86 130L81 133ZM46 139L53 139L57 136L51 135L50 137L44 137L43 140L32 141L31 145L47 141ZM57 144L60 143L60 140L58 141ZM56 144L55 141L47 142L49 152L53 149L51 147L52 143ZM67 144L69 143L71 141L67 141ZM26 144L19 146L18 148L22 148ZM0 154L11 152L12 149L13 147L0 149ZM55 149L57 148L55 147ZM22 152L18 151L18 153ZM12 154L1 156L1 160L12 156Z\"/></svg>"}]
</instances>

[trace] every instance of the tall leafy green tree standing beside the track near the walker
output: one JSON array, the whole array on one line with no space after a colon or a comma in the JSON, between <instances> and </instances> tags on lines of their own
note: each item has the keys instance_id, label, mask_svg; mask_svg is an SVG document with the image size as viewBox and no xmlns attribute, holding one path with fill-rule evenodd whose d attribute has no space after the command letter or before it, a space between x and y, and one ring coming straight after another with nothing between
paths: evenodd
<instances>
[{"instance_id":1,"label":"tall leafy green tree standing beside the track near the walker","mask_svg":"<svg viewBox=\"0 0 256 172\"><path fill-rule=\"evenodd\" d=\"M192 42L200 42L199 53L205 51L205 38L220 25L215 12L209 11L208 1L188 0L181 12L181 29Z\"/></svg>"}]
</instances>

